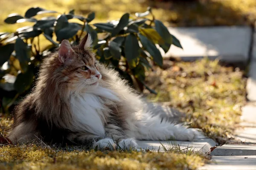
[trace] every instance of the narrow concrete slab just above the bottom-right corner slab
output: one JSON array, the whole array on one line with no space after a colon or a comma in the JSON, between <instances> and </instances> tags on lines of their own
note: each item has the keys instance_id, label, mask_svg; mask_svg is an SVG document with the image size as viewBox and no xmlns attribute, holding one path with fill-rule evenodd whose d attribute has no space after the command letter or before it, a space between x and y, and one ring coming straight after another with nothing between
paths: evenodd
<instances>
[{"instance_id":1,"label":"narrow concrete slab just above the bottom-right corner slab","mask_svg":"<svg viewBox=\"0 0 256 170\"><path fill-rule=\"evenodd\" d=\"M256 145L224 144L211 152L212 156L250 156L256 155Z\"/></svg>"}]
</instances>

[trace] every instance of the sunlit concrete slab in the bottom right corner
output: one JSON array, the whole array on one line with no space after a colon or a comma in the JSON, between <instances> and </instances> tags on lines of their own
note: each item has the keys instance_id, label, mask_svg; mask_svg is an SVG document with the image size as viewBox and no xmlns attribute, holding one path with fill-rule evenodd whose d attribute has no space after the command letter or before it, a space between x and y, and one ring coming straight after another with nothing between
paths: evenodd
<instances>
[{"instance_id":1,"label":"sunlit concrete slab in the bottom right corner","mask_svg":"<svg viewBox=\"0 0 256 170\"><path fill-rule=\"evenodd\" d=\"M256 170L256 156L213 156L212 161L199 170Z\"/></svg>"}]
</instances>

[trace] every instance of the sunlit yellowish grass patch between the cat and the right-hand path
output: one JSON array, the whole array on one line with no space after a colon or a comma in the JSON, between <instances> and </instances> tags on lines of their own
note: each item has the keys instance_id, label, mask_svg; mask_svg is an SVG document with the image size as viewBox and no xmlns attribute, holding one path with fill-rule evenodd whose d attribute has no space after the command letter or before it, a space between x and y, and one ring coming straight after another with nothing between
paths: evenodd
<instances>
[{"instance_id":1,"label":"sunlit yellowish grass patch between the cat and the right-hand path","mask_svg":"<svg viewBox=\"0 0 256 170\"><path fill-rule=\"evenodd\" d=\"M219 144L233 138L239 126L241 107L246 99L246 78L238 68L221 66L218 60L196 62L165 60L165 69L155 67L146 79L158 95L148 94L154 102L186 113L184 121L200 128Z\"/></svg>"}]
</instances>

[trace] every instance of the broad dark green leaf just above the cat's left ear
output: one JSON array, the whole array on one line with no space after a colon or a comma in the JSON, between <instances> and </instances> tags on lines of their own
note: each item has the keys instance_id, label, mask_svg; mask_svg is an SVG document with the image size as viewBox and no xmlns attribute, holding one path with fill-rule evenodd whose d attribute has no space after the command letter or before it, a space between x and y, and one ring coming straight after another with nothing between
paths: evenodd
<instances>
[{"instance_id":1,"label":"broad dark green leaf just above the cat's left ear","mask_svg":"<svg viewBox=\"0 0 256 170\"><path fill-rule=\"evenodd\" d=\"M78 23L68 23L66 27L63 27L58 31L55 30L57 41L61 42L62 40L68 40L74 37L80 29L81 25Z\"/></svg>"}]
</instances>

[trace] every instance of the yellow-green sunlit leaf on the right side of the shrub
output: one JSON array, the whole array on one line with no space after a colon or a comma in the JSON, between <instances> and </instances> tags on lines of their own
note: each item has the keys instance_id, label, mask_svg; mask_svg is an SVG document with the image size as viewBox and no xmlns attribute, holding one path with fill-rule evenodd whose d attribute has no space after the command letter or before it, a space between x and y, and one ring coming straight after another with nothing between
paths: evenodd
<instances>
[{"instance_id":1,"label":"yellow-green sunlit leaf on the right side of the shrub","mask_svg":"<svg viewBox=\"0 0 256 170\"><path fill-rule=\"evenodd\" d=\"M139 31L142 35L154 42L154 44L163 44L164 42L162 37L153 28L139 28Z\"/></svg>"}]
</instances>

